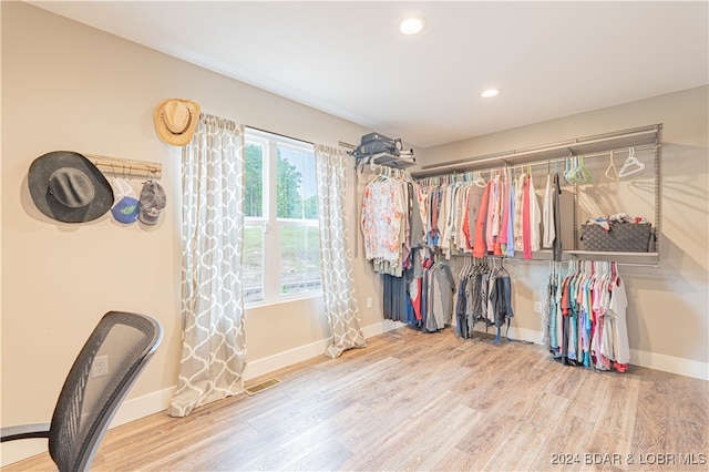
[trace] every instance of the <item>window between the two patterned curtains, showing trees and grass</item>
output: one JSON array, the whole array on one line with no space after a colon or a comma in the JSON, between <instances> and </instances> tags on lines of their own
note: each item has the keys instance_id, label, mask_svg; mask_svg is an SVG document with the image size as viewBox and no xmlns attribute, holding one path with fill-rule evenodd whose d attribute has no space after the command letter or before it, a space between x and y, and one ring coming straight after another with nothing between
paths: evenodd
<instances>
[{"instance_id":1,"label":"window between the two patterned curtains, showing trees and grass","mask_svg":"<svg viewBox=\"0 0 709 472\"><path fill-rule=\"evenodd\" d=\"M312 145L246 129L244 157L245 301L321 294Z\"/></svg>"}]
</instances>

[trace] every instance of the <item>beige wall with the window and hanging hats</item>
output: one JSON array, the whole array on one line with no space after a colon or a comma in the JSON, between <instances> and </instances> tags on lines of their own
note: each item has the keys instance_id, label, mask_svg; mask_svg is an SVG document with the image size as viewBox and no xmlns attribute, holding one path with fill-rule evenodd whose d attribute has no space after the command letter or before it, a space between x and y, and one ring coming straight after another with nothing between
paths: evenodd
<instances>
[{"instance_id":1,"label":"beige wall with the window and hanging hats","mask_svg":"<svg viewBox=\"0 0 709 472\"><path fill-rule=\"evenodd\" d=\"M155 135L155 104L187 98L206 113L329 145L356 143L370 130L24 3L1 9L2 425L49 421L75 353L112 309L153 315L165 329L129 400L169 392L181 347L181 155ZM44 217L29 197L27 170L56 150L160 162L168 202L160 224L124 226L106 215L66 225ZM350 171L350 199L352 185ZM376 296L361 258L353 270L360 300ZM378 304L361 315L364 327L381 329ZM256 366L284 352L298 360L302 352L292 351L302 346L322 352L329 337L320 298L247 310L246 324ZM21 447L4 444L3 462L13 454L9 448Z\"/></svg>"}]
</instances>

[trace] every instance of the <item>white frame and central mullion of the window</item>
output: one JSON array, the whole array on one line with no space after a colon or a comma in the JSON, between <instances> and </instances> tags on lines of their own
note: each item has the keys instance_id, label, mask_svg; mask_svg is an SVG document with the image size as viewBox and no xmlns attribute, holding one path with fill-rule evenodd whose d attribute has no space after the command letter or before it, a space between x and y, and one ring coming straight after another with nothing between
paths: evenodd
<instances>
[{"instance_id":1,"label":"white frame and central mullion of the window","mask_svg":"<svg viewBox=\"0 0 709 472\"><path fill-rule=\"evenodd\" d=\"M245 301L246 307L257 307L275 305L284 301L291 301L305 298L316 298L322 296L322 288L319 290L301 291L296 294L280 293L280 230L285 226L309 226L318 227L317 219L291 219L278 218L276 215L278 198L276 197L278 186L278 146L295 147L306 150L315 154L311 144L292 140L275 133L268 133L253 127L246 127L245 141L259 143L264 146L264 208L261 217L244 217L246 226L260 226L263 230L263 271L261 271L261 296L260 300ZM270 257L269 257L270 256Z\"/></svg>"}]
</instances>

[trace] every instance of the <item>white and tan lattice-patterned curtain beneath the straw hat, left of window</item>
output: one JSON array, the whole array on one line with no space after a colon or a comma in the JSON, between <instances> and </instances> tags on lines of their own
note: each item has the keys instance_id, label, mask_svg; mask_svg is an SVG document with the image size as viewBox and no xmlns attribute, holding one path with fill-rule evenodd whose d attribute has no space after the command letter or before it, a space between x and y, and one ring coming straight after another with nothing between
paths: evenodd
<instances>
[{"instance_id":1,"label":"white and tan lattice-patterned curtain beneath the straw hat, left of window","mask_svg":"<svg viewBox=\"0 0 709 472\"><path fill-rule=\"evenodd\" d=\"M204 113L183 147L183 346L172 417L244 391L243 148L243 125Z\"/></svg>"}]
</instances>

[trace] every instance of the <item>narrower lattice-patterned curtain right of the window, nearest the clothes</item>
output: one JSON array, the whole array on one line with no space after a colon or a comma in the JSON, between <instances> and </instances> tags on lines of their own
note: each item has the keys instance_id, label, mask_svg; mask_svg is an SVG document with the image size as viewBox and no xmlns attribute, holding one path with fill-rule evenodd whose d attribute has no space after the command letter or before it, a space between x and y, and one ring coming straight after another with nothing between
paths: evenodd
<instances>
[{"instance_id":1,"label":"narrower lattice-patterned curtain right of the window, nearest the clothes","mask_svg":"<svg viewBox=\"0 0 709 472\"><path fill-rule=\"evenodd\" d=\"M360 326L352 271L347 246L346 155L325 145L315 146L318 183L318 218L320 222L320 255L325 311L332 340L326 355L336 358L346 349L367 346Z\"/></svg>"}]
</instances>

